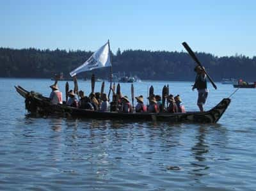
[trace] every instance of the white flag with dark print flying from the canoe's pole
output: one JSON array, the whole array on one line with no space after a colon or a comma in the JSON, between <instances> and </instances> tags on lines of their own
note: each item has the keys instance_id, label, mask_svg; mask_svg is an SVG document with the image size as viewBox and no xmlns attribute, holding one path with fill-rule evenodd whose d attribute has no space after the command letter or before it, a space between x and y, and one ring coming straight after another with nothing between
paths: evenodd
<instances>
[{"instance_id":1,"label":"white flag with dark print flying from the canoe's pole","mask_svg":"<svg viewBox=\"0 0 256 191\"><path fill-rule=\"evenodd\" d=\"M80 72L107 66L111 66L108 42L102 47L100 47L99 50L94 52L93 55L89 57L89 59L86 60L85 63L83 63L83 65L79 66L78 68L70 72L70 75L73 77L74 75L77 75L77 73Z\"/></svg>"}]
</instances>

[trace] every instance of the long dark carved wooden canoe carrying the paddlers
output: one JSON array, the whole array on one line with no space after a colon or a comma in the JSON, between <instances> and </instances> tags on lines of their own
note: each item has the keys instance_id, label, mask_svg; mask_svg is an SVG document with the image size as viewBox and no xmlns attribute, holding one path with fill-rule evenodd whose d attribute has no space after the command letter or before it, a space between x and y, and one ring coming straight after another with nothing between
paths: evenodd
<instances>
[{"instance_id":1,"label":"long dark carved wooden canoe carrying the paddlers","mask_svg":"<svg viewBox=\"0 0 256 191\"><path fill-rule=\"evenodd\" d=\"M129 121L168 121L172 123L216 123L230 104L230 98L224 98L209 111L186 113L124 113L124 112L100 112L86 109L77 109L65 104L52 105L49 98L34 91L15 86L16 91L25 98L25 106L28 112L38 113L44 116L60 115L61 117L110 119Z\"/></svg>"}]
</instances>

